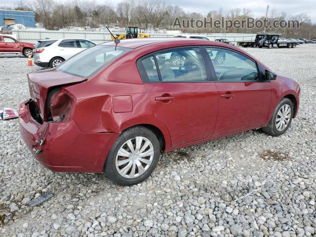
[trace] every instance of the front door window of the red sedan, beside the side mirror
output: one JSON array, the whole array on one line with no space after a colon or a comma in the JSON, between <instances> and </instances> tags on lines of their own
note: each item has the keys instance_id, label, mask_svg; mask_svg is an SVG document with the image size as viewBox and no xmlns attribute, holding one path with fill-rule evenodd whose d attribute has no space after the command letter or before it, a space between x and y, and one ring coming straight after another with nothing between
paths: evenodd
<instances>
[{"instance_id":1,"label":"front door window of the red sedan, beside the side mirror","mask_svg":"<svg viewBox=\"0 0 316 237\"><path fill-rule=\"evenodd\" d=\"M223 48L207 47L206 50L213 63L217 80L259 80L257 65L248 57Z\"/></svg>"}]
</instances>

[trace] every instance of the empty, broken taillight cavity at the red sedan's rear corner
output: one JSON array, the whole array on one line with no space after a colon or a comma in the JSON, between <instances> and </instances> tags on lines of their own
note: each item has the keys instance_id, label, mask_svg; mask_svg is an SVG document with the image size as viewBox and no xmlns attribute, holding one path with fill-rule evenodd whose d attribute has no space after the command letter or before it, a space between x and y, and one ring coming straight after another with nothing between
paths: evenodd
<instances>
[{"instance_id":1,"label":"empty, broken taillight cavity at the red sedan's rear corner","mask_svg":"<svg viewBox=\"0 0 316 237\"><path fill-rule=\"evenodd\" d=\"M68 121L71 113L72 99L61 88L53 89L47 96L48 121Z\"/></svg>"}]
</instances>

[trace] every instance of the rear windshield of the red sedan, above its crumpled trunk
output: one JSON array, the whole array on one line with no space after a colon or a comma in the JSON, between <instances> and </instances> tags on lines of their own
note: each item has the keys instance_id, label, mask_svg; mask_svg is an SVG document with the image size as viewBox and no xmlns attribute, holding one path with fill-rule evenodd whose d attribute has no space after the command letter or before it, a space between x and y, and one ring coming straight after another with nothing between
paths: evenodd
<instances>
[{"instance_id":1,"label":"rear windshield of the red sedan, above its crumpled trunk","mask_svg":"<svg viewBox=\"0 0 316 237\"><path fill-rule=\"evenodd\" d=\"M104 68L130 48L97 45L88 48L58 66L57 70L79 77L89 77Z\"/></svg>"}]
</instances>

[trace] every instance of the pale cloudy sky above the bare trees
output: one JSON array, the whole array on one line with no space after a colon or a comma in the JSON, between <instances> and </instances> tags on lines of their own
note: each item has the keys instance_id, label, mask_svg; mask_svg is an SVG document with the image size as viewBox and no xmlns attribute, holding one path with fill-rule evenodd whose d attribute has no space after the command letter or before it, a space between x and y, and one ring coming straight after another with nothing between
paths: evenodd
<instances>
[{"instance_id":1,"label":"pale cloudy sky above the bare trees","mask_svg":"<svg viewBox=\"0 0 316 237\"><path fill-rule=\"evenodd\" d=\"M95 0L102 4L111 2L116 5L120 0ZM11 5L14 0L0 0L0 5ZM249 8L255 17L266 14L266 7L269 4L276 9L277 13L286 12L290 15L307 13L312 22L316 23L316 0L166 0L172 5L181 6L186 12L208 13L210 10L223 8L228 11L233 8Z\"/></svg>"}]
</instances>

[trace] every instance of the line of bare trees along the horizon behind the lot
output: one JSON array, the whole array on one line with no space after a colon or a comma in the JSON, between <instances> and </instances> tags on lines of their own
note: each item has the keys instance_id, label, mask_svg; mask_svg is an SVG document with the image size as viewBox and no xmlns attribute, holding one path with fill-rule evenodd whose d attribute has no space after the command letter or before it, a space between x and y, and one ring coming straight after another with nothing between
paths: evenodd
<instances>
[{"instance_id":1,"label":"line of bare trees along the horizon behind the lot","mask_svg":"<svg viewBox=\"0 0 316 237\"><path fill-rule=\"evenodd\" d=\"M58 30L70 26L100 28L105 26L127 26L135 25L141 29L166 29L181 30L183 33L257 33L263 28L225 29L203 28L203 29L179 29L173 28L176 17L181 20L194 18L203 20L204 17L228 20L243 20L254 17L253 12L248 9L235 8L229 11L210 10L206 15L198 12L185 12L178 5L167 4L163 0L122 0L117 5L110 1L97 4L95 0L20 0L12 7L0 6L0 9L16 9L34 11L36 22L42 24L48 30ZM263 12L265 10L263 9ZM256 19L264 19L264 16ZM286 12L277 12L275 8L269 10L269 22L273 20L298 20L299 29L275 29L269 28L266 32L282 33L284 38L306 38L316 39L316 24L311 22L306 13L289 15Z\"/></svg>"}]
</instances>

